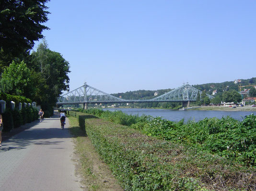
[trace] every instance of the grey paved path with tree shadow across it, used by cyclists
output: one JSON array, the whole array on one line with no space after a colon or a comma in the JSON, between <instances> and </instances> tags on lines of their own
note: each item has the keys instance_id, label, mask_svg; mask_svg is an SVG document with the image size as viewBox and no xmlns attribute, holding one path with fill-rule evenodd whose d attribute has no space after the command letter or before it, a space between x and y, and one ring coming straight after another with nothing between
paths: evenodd
<instances>
[{"instance_id":1,"label":"grey paved path with tree shadow across it, used by cyclists","mask_svg":"<svg viewBox=\"0 0 256 191\"><path fill-rule=\"evenodd\" d=\"M2 143L0 191L82 191L69 130L60 128L57 114L33 123Z\"/></svg>"}]
</instances>

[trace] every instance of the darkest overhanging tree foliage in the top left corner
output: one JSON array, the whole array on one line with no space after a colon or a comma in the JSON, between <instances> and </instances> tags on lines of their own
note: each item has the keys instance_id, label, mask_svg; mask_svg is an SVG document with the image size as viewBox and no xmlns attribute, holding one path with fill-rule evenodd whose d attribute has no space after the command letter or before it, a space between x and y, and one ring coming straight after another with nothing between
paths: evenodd
<instances>
[{"instance_id":1,"label":"darkest overhanging tree foliage in the top left corner","mask_svg":"<svg viewBox=\"0 0 256 191\"><path fill-rule=\"evenodd\" d=\"M0 0L0 67L32 49L43 38L49 0ZM23 58L23 57L22 57Z\"/></svg>"}]
</instances>

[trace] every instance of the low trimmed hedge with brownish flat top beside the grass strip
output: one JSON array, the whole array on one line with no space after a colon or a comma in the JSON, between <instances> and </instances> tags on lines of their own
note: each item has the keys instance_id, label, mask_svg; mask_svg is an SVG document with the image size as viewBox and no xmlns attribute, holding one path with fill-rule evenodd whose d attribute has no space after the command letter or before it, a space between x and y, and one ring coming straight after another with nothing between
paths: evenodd
<instances>
[{"instance_id":1,"label":"low trimmed hedge with brownish flat top beside the grass strip","mask_svg":"<svg viewBox=\"0 0 256 191\"><path fill-rule=\"evenodd\" d=\"M256 172L183 144L80 112L95 149L128 191L255 190Z\"/></svg>"}]
</instances>

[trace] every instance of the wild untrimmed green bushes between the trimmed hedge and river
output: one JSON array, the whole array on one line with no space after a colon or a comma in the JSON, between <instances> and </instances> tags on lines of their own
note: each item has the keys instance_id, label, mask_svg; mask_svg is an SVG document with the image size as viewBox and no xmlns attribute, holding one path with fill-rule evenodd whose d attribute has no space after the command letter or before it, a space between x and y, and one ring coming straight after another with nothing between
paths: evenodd
<instances>
[{"instance_id":1,"label":"wild untrimmed green bushes between the trimmed hedge and river","mask_svg":"<svg viewBox=\"0 0 256 191\"><path fill-rule=\"evenodd\" d=\"M256 116L254 115L244 117L243 121L223 117L183 123L183 120L173 122L161 117L127 115L121 111L89 109L83 112L139 129L148 136L185 143L242 165L256 167Z\"/></svg>"}]
</instances>

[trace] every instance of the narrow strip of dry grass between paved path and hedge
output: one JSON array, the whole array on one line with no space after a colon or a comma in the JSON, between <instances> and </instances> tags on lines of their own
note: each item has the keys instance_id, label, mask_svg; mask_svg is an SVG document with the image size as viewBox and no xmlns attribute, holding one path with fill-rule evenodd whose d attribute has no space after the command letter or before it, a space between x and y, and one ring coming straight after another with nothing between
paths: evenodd
<instances>
[{"instance_id":1,"label":"narrow strip of dry grass between paved path and hedge","mask_svg":"<svg viewBox=\"0 0 256 191\"><path fill-rule=\"evenodd\" d=\"M100 159L85 131L79 127L78 119L68 118L70 133L76 145L75 155L79 161L77 172L83 179L82 184L89 191L122 191L107 165Z\"/></svg>"}]
</instances>

